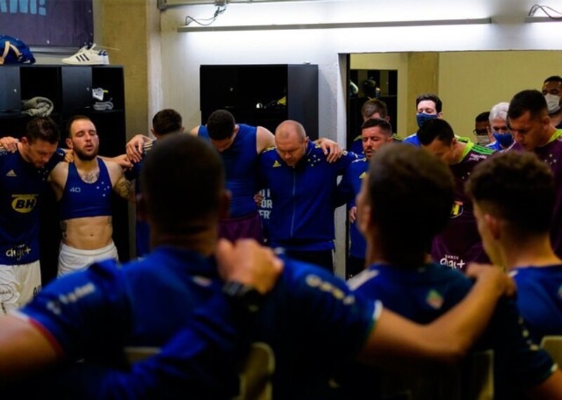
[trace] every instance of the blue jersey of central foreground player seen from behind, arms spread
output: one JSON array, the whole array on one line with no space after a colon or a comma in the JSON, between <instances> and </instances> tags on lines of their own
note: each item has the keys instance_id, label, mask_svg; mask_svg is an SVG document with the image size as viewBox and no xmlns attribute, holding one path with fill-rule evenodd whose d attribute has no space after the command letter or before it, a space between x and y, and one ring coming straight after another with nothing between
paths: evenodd
<instances>
[{"instance_id":1,"label":"blue jersey of central foreground player seen from behind, arms spread","mask_svg":"<svg viewBox=\"0 0 562 400\"><path fill-rule=\"evenodd\" d=\"M20 313L71 359L119 366L125 347L164 345L221 288L212 260L177 248L157 248L121 269L102 262L64 276ZM332 274L285 260L282 276L245 335L250 355L242 372L244 387L265 384L263 389L273 390L275 399L322 397L334 362L358 353L379 312L380 303L356 297ZM190 349L194 344L183 345ZM181 359L185 352L172 354ZM190 370L183 373L189 376ZM82 382L98 385L87 377Z\"/></svg>"}]
</instances>

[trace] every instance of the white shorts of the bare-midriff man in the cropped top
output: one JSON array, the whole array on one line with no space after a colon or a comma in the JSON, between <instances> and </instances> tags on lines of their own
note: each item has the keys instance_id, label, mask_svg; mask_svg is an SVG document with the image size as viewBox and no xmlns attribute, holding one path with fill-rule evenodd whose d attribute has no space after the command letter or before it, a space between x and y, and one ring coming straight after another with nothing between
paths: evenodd
<instances>
[{"instance_id":1,"label":"white shorts of the bare-midriff man in the cropped top","mask_svg":"<svg viewBox=\"0 0 562 400\"><path fill-rule=\"evenodd\" d=\"M58 276L81 271L94 262L107 260L107 258L119 260L117 248L113 242L105 247L96 248L96 250L80 250L61 243L58 252Z\"/></svg>"}]
</instances>

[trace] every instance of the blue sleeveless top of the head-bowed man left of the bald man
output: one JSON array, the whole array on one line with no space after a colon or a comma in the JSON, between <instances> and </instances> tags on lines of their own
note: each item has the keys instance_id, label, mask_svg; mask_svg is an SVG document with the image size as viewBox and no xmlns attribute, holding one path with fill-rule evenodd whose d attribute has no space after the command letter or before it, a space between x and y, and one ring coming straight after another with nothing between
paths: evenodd
<instances>
[{"instance_id":1,"label":"blue sleeveless top of the head-bowed man left of the bald man","mask_svg":"<svg viewBox=\"0 0 562 400\"><path fill-rule=\"evenodd\" d=\"M226 188L230 190L230 218L240 218L257 210L258 153L255 126L238 124L238 133L228 149L221 152L226 170ZM211 140L206 126L200 126L200 138Z\"/></svg>"}]
</instances>

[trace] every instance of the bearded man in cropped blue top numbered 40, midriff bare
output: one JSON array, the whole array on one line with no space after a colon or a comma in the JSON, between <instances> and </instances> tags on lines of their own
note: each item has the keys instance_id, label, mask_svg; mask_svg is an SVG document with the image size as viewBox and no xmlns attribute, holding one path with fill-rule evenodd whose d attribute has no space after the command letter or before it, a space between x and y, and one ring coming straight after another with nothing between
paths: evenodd
<instances>
[{"instance_id":1,"label":"bearded man in cropped blue top numbered 40, midriff bare","mask_svg":"<svg viewBox=\"0 0 562 400\"><path fill-rule=\"evenodd\" d=\"M49 182L60 204L63 239L58 255L58 276L85 269L97 260L117 259L113 243L111 192L135 200L134 187L121 166L98 156L100 140L87 116L74 116L68 125L67 146L73 163L60 162Z\"/></svg>"}]
</instances>

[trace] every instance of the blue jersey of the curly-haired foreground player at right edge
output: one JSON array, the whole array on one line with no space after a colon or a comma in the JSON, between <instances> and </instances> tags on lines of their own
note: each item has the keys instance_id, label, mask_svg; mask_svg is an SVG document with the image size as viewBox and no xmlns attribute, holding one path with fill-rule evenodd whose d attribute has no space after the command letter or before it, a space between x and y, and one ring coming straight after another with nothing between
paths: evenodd
<instances>
[{"instance_id":1,"label":"blue jersey of the curly-haired foreground player at right edge","mask_svg":"<svg viewBox=\"0 0 562 400\"><path fill-rule=\"evenodd\" d=\"M533 339L562 335L562 265L515 268L517 307Z\"/></svg>"}]
</instances>

